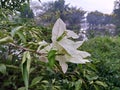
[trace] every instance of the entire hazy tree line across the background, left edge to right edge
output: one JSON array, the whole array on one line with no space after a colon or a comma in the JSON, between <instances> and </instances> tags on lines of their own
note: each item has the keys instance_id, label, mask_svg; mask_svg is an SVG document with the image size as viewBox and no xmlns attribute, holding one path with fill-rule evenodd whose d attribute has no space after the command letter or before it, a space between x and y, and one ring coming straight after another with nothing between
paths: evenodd
<instances>
[{"instance_id":1,"label":"entire hazy tree line across the background, left edge to right edge","mask_svg":"<svg viewBox=\"0 0 120 90\"><path fill-rule=\"evenodd\" d=\"M119 0L116 0L114 3L114 10L111 14L104 14L99 11L87 12L77 7L70 7L69 4L65 4L65 0L56 0L54 2L40 3L37 8L30 6L29 0L16 1L13 0L9 2L8 0L1 1L1 7L6 9L11 9L13 11L19 11L21 18L34 18L38 25L43 26L53 26L57 18L61 18L67 25L68 29L79 30L81 29L81 24L85 23L84 19L86 18L86 23L88 24L88 32L103 32L106 34L111 32L107 29L110 29L114 24L117 26L117 29L114 30L114 34L118 35L119 32ZM34 10L39 10L37 16L34 15ZM85 15L87 14L87 16ZM107 27L105 27L107 25ZM114 28L114 26L113 26ZM95 33L97 34L97 33ZM98 33L100 34L100 33Z\"/></svg>"}]
</instances>

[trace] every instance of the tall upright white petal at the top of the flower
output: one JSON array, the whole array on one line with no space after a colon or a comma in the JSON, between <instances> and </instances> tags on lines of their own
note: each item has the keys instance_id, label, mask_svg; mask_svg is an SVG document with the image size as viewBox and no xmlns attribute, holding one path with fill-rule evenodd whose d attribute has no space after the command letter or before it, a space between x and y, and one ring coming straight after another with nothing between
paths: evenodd
<instances>
[{"instance_id":1,"label":"tall upright white petal at the top of the flower","mask_svg":"<svg viewBox=\"0 0 120 90\"><path fill-rule=\"evenodd\" d=\"M59 18L52 29L52 41L56 41L66 30L65 23Z\"/></svg>"}]
</instances>

